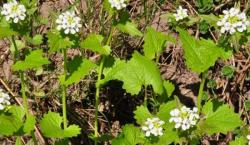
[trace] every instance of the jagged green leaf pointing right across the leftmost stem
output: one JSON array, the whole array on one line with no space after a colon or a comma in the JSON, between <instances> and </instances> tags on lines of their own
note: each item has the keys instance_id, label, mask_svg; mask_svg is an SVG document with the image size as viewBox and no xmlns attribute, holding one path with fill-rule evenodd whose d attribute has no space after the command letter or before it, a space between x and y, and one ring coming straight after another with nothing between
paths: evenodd
<instances>
[{"instance_id":1,"label":"jagged green leaf pointing right across the leftmost stem","mask_svg":"<svg viewBox=\"0 0 250 145\"><path fill-rule=\"evenodd\" d=\"M49 64L50 61L43 57L42 50L34 50L31 51L26 57L24 61L17 61L13 65L14 71L19 70L28 70L28 69L36 69L41 67L42 65Z\"/></svg>"}]
</instances>

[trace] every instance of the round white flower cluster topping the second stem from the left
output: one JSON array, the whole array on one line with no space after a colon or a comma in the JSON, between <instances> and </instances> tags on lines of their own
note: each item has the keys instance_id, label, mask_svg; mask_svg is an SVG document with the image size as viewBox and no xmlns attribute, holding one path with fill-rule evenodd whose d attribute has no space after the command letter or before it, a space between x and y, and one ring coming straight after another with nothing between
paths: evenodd
<instances>
[{"instance_id":1,"label":"round white flower cluster topping the second stem from the left","mask_svg":"<svg viewBox=\"0 0 250 145\"><path fill-rule=\"evenodd\" d=\"M82 27L80 21L81 19L74 12L67 11L59 15L56 20L57 30L64 30L65 34L75 34Z\"/></svg>"}]
</instances>

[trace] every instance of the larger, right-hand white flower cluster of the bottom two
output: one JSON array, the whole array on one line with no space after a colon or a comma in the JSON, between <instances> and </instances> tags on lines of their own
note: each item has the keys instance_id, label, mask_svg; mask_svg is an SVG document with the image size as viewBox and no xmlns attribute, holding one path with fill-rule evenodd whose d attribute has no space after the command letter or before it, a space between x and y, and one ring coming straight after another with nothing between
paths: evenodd
<instances>
[{"instance_id":1,"label":"larger, right-hand white flower cluster of the bottom two","mask_svg":"<svg viewBox=\"0 0 250 145\"><path fill-rule=\"evenodd\" d=\"M180 109L176 108L170 111L171 118L169 122L175 123L175 128L181 128L182 130L187 130L190 127L196 125L199 114L198 108L194 107L193 110L187 108L186 106Z\"/></svg>"}]
</instances>

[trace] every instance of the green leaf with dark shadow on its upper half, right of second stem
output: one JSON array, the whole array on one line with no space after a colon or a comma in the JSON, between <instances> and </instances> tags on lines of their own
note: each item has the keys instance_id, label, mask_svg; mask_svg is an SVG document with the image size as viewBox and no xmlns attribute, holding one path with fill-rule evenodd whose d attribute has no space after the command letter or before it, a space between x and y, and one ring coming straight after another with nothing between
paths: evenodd
<instances>
[{"instance_id":1,"label":"green leaf with dark shadow on its upper half, right of second stem","mask_svg":"<svg viewBox=\"0 0 250 145\"><path fill-rule=\"evenodd\" d=\"M69 76L62 83L64 85L71 85L73 83L78 83L82 78L88 75L89 71L94 69L96 65L88 59L83 59L76 56L72 61L68 63Z\"/></svg>"}]
</instances>

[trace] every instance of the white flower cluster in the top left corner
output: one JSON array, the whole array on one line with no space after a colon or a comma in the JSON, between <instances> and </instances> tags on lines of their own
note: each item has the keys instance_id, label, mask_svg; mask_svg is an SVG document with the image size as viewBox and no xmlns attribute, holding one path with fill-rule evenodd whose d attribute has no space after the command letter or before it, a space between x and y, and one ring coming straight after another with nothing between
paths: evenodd
<instances>
[{"instance_id":1,"label":"white flower cluster in the top left corner","mask_svg":"<svg viewBox=\"0 0 250 145\"><path fill-rule=\"evenodd\" d=\"M24 5L17 3L16 0L3 4L1 14L5 16L6 21L13 19L14 23L24 20L26 17Z\"/></svg>"}]
</instances>

